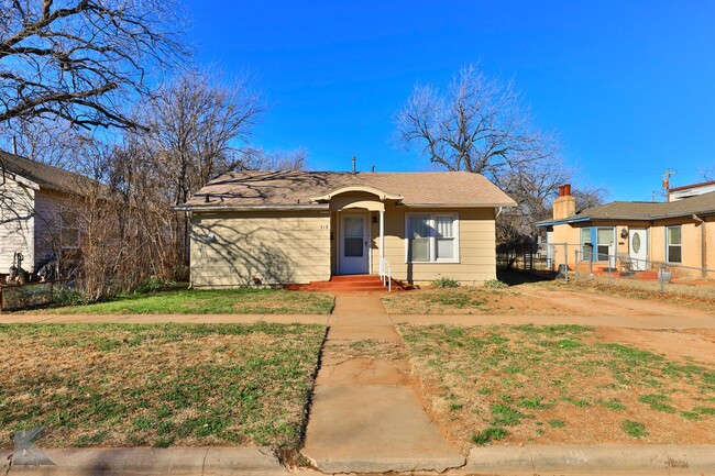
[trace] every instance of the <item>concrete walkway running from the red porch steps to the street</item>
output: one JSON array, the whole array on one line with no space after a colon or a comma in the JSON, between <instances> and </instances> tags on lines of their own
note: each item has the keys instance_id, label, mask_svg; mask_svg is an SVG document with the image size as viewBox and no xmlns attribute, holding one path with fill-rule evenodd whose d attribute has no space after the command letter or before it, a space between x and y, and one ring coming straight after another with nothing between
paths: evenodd
<instances>
[{"instance_id":1,"label":"concrete walkway running from the red porch steps to the street","mask_svg":"<svg viewBox=\"0 0 715 476\"><path fill-rule=\"evenodd\" d=\"M441 473L465 463L425 412L402 348L380 296L337 296L302 450L318 469Z\"/></svg>"}]
</instances>

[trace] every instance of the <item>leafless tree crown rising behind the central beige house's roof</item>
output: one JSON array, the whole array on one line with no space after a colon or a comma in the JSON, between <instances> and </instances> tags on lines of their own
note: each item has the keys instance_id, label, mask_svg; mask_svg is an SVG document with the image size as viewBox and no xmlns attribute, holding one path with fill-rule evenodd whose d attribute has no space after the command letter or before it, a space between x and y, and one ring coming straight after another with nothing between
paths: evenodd
<instances>
[{"instance_id":1,"label":"leafless tree crown rising behind the central beige house's roof","mask_svg":"<svg viewBox=\"0 0 715 476\"><path fill-rule=\"evenodd\" d=\"M417 85L396 125L398 142L419 145L432 163L493 180L558 151L553 137L531 126L514 81L488 78L473 65L462 67L447 95Z\"/></svg>"}]
</instances>

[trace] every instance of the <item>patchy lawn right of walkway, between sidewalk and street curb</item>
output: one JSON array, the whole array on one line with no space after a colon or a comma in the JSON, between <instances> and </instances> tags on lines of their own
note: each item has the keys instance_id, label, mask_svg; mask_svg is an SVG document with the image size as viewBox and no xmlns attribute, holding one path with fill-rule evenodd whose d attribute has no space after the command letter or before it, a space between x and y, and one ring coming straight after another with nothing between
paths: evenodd
<instances>
[{"instance_id":1,"label":"patchy lawn right of walkway, between sidewalk and street curb","mask_svg":"<svg viewBox=\"0 0 715 476\"><path fill-rule=\"evenodd\" d=\"M398 326L457 444L715 444L715 365L578 325ZM613 331L613 330L610 330ZM713 343L715 333L702 331Z\"/></svg>"}]
</instances>

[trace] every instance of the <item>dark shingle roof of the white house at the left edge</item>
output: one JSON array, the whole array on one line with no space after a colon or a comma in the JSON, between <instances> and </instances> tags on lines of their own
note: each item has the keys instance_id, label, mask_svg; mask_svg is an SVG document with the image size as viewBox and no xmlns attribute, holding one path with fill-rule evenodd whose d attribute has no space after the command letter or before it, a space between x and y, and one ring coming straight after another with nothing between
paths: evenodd
<instances>
[{"instance_id":1,"label":"dark shingle roof of the white house at the left edge","mask_svg":"<svg viewBox=\"0 0 715 476\"><path fill-rule=\"evenodd\" d=\"M94 180L42 162L0 151L0 173L10 171L40 186L41 189L82 195Z\"/></svg>"}]
</instances>

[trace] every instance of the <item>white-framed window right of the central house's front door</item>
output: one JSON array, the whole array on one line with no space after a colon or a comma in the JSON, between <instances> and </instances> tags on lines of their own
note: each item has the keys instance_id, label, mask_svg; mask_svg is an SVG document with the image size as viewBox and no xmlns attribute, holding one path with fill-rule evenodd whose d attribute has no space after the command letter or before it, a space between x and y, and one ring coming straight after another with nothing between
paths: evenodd
<instances>
[{"instance_id":1,"label":"white-framed window right of the central house's front door","mask_svg":"<svg viewBox=\"0 0 715 476\"><path fill-rule=\"evenodd\" d=\"M407 263L459 263L457 213L407 214Z\"/></svg>"}]
</instances>

